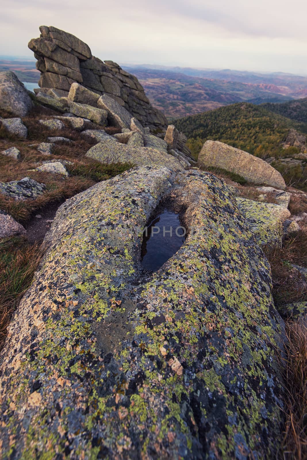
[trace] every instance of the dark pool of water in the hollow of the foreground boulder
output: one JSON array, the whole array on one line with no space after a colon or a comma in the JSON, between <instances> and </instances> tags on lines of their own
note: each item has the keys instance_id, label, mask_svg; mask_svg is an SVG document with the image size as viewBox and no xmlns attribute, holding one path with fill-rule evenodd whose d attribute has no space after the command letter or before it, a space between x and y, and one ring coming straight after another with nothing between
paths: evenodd
<instances>
[{"instance_id":1,"label":"dark pool of water in the hollow of the foreground boulder","mask_svg":"<svg viewBox=\"0 0 307 460\"><path fill-rule=\"evenodd\" d=\"M141 264L145 270L158 270L182 246L185 230L178 227L181 227L179 215L168 210L150 222L142 242Z\"/></svg>"}]
</instances>

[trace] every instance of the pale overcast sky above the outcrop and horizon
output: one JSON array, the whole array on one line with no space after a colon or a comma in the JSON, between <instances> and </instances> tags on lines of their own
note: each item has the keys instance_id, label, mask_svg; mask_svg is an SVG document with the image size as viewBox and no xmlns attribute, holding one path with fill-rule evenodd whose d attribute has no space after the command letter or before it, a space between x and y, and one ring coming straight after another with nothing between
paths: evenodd
<instances>
[{"instance_id":1,"label":"pale overcast sky above the outcrop and horizon","mask_svg":"<svg viewBox=\"0 0 307 460\"><path fill-rule=\"evenodd\" d=\"M306 17L304 0L10 0L0 54L33 56L52 25L103 60L307 75Z\"/></svg>"}]
</instances>

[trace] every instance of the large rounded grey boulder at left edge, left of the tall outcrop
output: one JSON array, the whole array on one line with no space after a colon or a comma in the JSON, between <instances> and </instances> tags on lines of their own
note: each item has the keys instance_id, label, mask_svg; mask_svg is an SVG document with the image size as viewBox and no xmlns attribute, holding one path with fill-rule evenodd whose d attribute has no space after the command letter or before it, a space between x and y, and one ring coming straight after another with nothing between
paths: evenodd
<instances>
[{"instance_id":1,"label":"large rounded grey boulder at left edge, left of the tall outcrop","mask_svg":"<svg viewBox=\"0 0 307 460\"><path fill-rule=\"evenodd\" d=\"M25 116L32 105L26 88L16 74L11 70L0 72L0 109L12 115Z\"/></svg>"}]
</instances>

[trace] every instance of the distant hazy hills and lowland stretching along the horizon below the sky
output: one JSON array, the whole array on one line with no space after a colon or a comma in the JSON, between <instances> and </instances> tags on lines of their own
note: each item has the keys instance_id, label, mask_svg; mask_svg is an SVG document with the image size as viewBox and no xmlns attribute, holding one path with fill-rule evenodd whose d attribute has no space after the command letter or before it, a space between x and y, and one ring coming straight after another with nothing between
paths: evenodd
<instances>
[{"instance_id":1,"label":"distant hazy hills and lowland stretching along the horizon below the sky","mask_svg":"<svg viewBox=\"0 0 307 460\"><path fill-rule=\"evenodd\" d=\"M0 71L10 69L21 81L37 83L40 72L35 69L35 62L30 58L0 57ZM274 104L307 98L307 77L282 72L269 74L150 64L122 67L136 75L150 102L169 120L237 102ZM290 105L289 110L295 110L294 107ZM279 110L285 110L285 114ZM285 116L287 110L279 104L272 107L272 111Z\"/></svg>"}]
</instances>

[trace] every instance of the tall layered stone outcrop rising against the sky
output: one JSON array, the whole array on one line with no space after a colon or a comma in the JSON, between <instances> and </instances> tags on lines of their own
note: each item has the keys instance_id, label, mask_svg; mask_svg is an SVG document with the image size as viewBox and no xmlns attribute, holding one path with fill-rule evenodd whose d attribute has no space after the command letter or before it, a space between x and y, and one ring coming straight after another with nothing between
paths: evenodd
<instances>
[{"instance_id":1,"label":"tall layered stone outcrop rising against the sky","mask_svg":"<svg viewBox=\"0 0 307 460\"><path fill-rule=\"evenodd\" d=\"M44 91L54 88L70 92L71 85L79 83L99 96L112 97L152 131L166 128L165 116L152 107L134 75L113 61L92 56L83 41L63 30L41 26L40 33L40 38L30 40L28 46L38 60L39 86Z\"/></svg>"}]
</instances>

